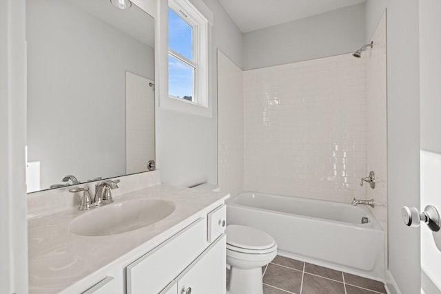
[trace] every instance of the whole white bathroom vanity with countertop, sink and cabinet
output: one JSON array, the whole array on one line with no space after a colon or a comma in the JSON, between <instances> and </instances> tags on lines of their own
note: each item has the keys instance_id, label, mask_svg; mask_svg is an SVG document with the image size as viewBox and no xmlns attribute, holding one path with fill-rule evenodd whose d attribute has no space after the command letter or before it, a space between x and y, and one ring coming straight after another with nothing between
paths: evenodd
<instances>
[{"instance_id":1,"label":"whole white bathroom vanity with countertop, sink and cabinet","mask_svg":"<svg viewBox=\"0 0 441 294\"><path fill-rule=\"evenodd\" d=\"M114 202L90 211L66 207L79 195L63 189L30 194L30 293L225 293L228 195L159 180L141 189L125 184L155 173L122 178Z\"/></svg>"}]
</instances>

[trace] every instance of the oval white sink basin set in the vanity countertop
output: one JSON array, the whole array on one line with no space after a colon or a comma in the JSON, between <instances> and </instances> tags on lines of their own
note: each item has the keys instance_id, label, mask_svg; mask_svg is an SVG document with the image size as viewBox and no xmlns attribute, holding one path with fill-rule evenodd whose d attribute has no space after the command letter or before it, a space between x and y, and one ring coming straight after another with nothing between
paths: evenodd
<instances>
[{"instance_id":1,"label":"oval white sink basin set in the vanity countertop","mask_svg":"<svg viewBox=\"0 0 441 294\"><path fill-rule=\"evenodd\" d=\"M160 199L126 200L107 204L74 218L69 231L84 236L126 233L163 220L174 209L173 202Z\"/></svg>"}]
</instances>

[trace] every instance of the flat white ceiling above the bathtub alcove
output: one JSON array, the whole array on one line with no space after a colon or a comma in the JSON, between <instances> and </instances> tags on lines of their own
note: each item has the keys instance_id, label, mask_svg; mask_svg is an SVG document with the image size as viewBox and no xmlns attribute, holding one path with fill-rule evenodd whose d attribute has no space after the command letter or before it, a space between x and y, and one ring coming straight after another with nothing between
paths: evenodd
<instances>
[{"instance_id":1,"label":"flat white ceiling above the bathtub alcove","mask_svg":"<svg viewBox=\"0 0 441 294\"><path fill-rule=\"evenodd\" d=\"M220 0L241 32L304 19L366 0Z\"/></svg>"}]
</instances>

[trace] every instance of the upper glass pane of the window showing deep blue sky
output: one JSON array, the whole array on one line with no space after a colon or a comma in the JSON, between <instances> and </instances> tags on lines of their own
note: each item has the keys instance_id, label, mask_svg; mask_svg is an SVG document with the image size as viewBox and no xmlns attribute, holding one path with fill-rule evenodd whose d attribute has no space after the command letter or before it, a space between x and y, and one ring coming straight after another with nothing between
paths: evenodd
<instances>
[{"instance_id":1,"label":"upper glass pane of the window showing deep blue sky","mask_svg":"<svg viewBox=\"0 0 441 294\"><path fill-rule=\"evenodd\" d=\"M193 28L171 8L168 8L168 46L193 61Z\"/></svg>"}]
</instances>

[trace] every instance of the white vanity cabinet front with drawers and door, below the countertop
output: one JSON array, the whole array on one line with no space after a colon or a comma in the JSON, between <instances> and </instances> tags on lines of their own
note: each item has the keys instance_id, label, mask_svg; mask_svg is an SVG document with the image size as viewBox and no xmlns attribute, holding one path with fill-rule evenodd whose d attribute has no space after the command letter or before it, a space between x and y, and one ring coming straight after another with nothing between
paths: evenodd
<instances>
[{"instance_id":1,"label":"white vanity cabinet front with drawers and door, below the countertop","mask_svg":"<svg viewBox=\"0 0 441 294\"><path fill-rule=\"evenodd\" d=\"M225 293L224 221L222 205L129 264L127 294Z\"/></svg>"}]
</instances>

